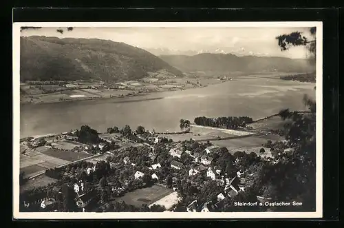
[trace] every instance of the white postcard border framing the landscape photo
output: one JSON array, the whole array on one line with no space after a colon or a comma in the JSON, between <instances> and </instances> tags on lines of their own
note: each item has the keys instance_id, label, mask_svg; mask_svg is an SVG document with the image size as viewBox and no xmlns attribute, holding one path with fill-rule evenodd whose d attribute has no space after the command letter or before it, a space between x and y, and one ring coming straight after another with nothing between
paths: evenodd
<instances>
[{"instance_id":1,"label":"white postcard border framing the landscape photo","mask_svg":"<svg viewBox=\"0 0 344 228\"><path fill-rule=\"evenodd\" d=\"M20 28L28 27L316 27L316 211L315 212L19 212L20 167ZM227 219L322 218L323 216L323 23L321 21L269 22L21 22L13 23L13 218L14 219Z\"/></svg>"}]
</instances>

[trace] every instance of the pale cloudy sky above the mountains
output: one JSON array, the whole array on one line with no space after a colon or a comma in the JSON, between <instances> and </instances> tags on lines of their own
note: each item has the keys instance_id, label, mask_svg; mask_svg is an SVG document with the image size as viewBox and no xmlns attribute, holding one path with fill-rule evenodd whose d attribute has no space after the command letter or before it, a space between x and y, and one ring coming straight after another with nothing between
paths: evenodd
<instances>
[{"instance_id":1,"label":"pale cloudy sky above the mountains","mask_svg":"<svg viewBox=\"0 0 344 228\"><path fill-rule=\"evenodd\" d=\"M23 30L22 36L33 35L46 37L97 38L124 42L138 48L168 48L170 50L196 51L224 50L226 52L241 52L264 56L284 56L292 59L308 57L305 47L293 47L281 52L277 45L279 34L303 32L310 37L310 28L96 28L76 27L63 34L56 32L57 28L41 28L39 30Z\"/></svg>"}]
</instances>

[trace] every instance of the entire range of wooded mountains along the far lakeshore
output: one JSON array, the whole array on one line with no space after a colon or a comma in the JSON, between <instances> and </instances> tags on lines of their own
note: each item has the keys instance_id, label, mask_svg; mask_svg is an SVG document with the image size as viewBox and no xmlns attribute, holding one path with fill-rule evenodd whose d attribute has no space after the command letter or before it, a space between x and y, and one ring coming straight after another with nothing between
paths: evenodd
<instances>
[{"instance_id":1,"label":"entire range of wooded mountains along the far lakeshore","mask_svg":"<svg viewBox=\"0 0 344 228\"><path fill-rule=\"evenodd\" d=\"M178 50L173 50L176 53ZM154 72L184 76L188 72L314 72L306 59L238 56L223 50L155 56L126 43L100 39L21 37L21 81L130 81Z\"/></svg>"}]
</instances>

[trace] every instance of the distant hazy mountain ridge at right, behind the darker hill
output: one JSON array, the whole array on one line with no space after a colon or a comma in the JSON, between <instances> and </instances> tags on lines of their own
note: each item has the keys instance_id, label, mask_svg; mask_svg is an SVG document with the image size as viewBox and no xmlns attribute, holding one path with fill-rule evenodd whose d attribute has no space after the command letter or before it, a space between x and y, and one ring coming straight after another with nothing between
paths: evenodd
<instances>
[{"instance_id":1,"label":"distant hazy mountain ridge at right, behind the darker hill","mask_svg":"<svg viewBox=\"0 0 344 228\"><path fill-rule=\"evenodd\" d=\"M182 72L314 72L308 59L272 56L237 56L202 53L193 56L161 55L160 58Z\"/></svg>"}]
</instances>

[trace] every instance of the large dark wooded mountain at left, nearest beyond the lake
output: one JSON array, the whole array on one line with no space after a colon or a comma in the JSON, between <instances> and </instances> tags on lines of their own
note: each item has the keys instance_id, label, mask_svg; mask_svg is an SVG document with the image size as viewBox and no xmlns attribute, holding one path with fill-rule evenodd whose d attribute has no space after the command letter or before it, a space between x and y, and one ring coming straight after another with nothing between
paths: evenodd
<instances>
[{"instance_id":1,"label":"large dark wooded mountain at left, nearest beyond the lake","mask_svg":"<svg viewBox=\"0 0 344 228\"><path fill-rule=\"evenodd\" d=\"M146 50L100 39L21 37L21 81L128 81L147 72L182 72Z\"/></svg>"}]
</instances>

